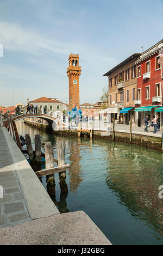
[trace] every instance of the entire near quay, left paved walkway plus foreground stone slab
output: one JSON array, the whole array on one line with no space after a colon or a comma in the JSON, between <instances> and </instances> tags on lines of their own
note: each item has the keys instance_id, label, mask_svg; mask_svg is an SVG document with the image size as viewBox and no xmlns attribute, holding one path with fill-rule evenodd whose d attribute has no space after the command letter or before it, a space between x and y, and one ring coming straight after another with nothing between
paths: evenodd
<instances>
[{"instance_id":1,"label":"entire near quay, left paved walkway plus foreground stone slab","mask_svg":"<svg viewBox=\"0 0 163 256\"><path fill-rule=\"evenodd\" d=\"M0 145L0 245L111 245L82 209L60 214L1 126Z\"/></svg>"}]
</instances>

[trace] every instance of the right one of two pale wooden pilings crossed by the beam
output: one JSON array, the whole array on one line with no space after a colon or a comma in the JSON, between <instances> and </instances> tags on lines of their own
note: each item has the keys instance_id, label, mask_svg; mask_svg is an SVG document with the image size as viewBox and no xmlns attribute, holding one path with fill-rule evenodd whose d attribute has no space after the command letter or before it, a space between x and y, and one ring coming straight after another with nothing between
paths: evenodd
<instances>
[{"instance_id":1,"label":"right one of two pale wooden pilings crossed by the beam","mask_svg":"<svg viewBox=\"0 0 163 256\"><path fill-rule=\"evenodd\" d=\"M59 141L57 145L58 166L65 165L65 141ZM61 193L68 193L66 184L66 171L59 173L59 185Z\"/></svg>"}]
</instances>

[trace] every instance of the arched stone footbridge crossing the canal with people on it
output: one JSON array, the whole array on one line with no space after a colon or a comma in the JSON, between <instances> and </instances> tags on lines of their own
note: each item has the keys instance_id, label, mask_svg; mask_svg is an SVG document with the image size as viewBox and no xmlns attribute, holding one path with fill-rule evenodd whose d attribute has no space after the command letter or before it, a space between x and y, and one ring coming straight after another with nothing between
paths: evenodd
<instances>
[{"instance_id":1,"label":"arched stone footbridge crossing the canal with people on it","mask_svg":"<svg viewBox=\"0 0 163 256\"><path fill-rule=\"evenodd\" d=\"M15 115L14 117L11 117L11 118L12 118L12 121L18 121L25 118L41 118L47 121L49 130L65 130L66 129L66 123L64 123L61 119L54 118L51 115L47 115L47 114L20 114L20 115ZM8 119L3 119L2 123L3 123L3 126L8 128L8 125L9 125Z\"/></svg>"}]
</instances>

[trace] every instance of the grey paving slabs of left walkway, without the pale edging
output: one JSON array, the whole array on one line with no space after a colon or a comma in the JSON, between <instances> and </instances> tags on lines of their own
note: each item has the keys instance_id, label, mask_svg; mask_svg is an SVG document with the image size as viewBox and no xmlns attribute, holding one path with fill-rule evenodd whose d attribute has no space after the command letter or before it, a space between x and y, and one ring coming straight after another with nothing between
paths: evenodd
<instances>
[{"instance_id":1,"label":"grey paving slabs of left walkway, without the pale edging","mask_svg":"<svg viewBox=\"0 0 163 256\"><path fill-rule=\"evenodd\" d=\"M0 198L0 228L29 221L27 205L1 127L0 185L3 186L3 198Z\"/></svg>"}]
</instances>

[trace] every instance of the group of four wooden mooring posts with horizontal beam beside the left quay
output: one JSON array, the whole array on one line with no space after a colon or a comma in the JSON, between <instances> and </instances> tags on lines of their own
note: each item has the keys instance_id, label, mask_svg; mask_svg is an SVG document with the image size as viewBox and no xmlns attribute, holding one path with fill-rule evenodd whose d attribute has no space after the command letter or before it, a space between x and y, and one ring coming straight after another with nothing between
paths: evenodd
<instances>
[{"instance_id":1,"label":"group of four wooden mooring posts with horizontal beam beside the left quay","mask_svg":"<svg viewBox=\"0 0 163 256\"><path fill-rule=\"evenodd\" d=\"M55 193L55 179L54 174L59 173L59 184L62 193L67 193L68 188L66 184L66 170L70 169L70 164L65 163L65 141L59 141L57 144L57 157L54 158L54 152L51 142L45 143L45 154L41 152L41 138L40 135L35 135L35 151L33 151L32 142L29 134L26 134L27 151L22 150L23 153L28 153L30 164L35 170L38 178L46 176L48 185L48 192ZM41 157L45 156L45 170L41 170ZM54 163L58 164L54 167Z\"/></svg>"}]
</instances>

